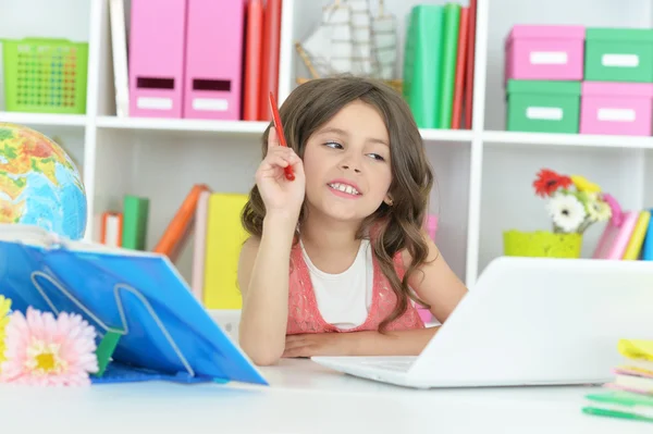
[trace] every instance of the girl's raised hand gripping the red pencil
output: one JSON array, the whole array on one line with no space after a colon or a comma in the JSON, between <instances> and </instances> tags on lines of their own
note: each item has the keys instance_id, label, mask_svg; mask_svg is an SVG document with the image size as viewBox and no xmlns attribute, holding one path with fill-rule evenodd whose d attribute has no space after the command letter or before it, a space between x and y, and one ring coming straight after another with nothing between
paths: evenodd
<instances>
[{"instance_id":1,"label":"girl's raised hand gripping the red pencil","mask_svg":"<svg viewBox=\"0 0 653 434\"><path fill-rule=\"evenodd\" d=\"M288 165L295 173L293 181L285 177L284 169ZM256 172L256 184L266 204L266 214L299 215L306 189L304 165L292 148L279 144L274 127L268 135L268 154Z\"/></svg>"}]
</instances>

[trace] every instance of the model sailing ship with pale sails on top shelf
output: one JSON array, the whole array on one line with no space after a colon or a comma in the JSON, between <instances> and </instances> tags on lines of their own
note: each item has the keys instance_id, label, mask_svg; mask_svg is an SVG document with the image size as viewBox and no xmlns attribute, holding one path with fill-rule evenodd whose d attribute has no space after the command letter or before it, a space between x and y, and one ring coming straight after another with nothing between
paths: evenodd
<instances>
[{"instance_id":1,"label":"model sailing ship with pale sails on top shelf","mask_svg":"<svg viewBox=\"0 0 653 434\"><path fill-rule=\"evenodd\" d=\"M372 13L371 0L335 0L322 9L316 30L295 48L310 78L338 74L379 78L401 89L395 79L397 35L394 15L384 12L378 1Z\"/></svg>"}]
</instances>

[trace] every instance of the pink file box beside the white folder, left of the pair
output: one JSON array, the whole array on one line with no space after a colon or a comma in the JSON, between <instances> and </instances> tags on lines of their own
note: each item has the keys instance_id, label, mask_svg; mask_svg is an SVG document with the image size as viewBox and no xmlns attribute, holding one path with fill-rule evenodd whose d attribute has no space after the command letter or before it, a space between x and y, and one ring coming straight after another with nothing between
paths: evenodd
<instances>
[{"instance_id":1,"label":"pink file box beside the white folder, left of the pair","mask_svg":"<svg viewBox=\"0 0 653 434\"><path fill-rule=\"evenodd\" d=\"M186 0L132 0L130 115L182 117Z\"/></svg>"}]
</instances>

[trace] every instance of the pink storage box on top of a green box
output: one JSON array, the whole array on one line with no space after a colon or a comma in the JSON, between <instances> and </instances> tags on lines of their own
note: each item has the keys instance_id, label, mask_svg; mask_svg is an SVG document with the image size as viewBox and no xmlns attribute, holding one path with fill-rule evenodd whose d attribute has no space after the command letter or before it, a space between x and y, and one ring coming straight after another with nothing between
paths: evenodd
<instances>
[{"instance_id":1,"label":"pink storage box on top of a green box","mask_svg":"<svg viewBox=\"0 0 653 434\"><path fill-rule=\"evenodd\" d=\"M505 47L505 79L582 79L584 35L584 26L514 26Z\"/></svg>"}]
</instances>

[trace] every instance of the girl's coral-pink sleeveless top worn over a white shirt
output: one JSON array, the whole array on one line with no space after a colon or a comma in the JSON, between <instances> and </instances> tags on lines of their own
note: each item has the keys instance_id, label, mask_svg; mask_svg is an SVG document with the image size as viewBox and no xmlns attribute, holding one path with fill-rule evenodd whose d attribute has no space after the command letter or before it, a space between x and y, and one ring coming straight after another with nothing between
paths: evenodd
<instances>
[{"instance_id":1,"label":"girl's coral-pink sleeveless top worn over a white shirt","mask_svg":"<svg viewBox=\"0 0 653 434\"><path fill-rule=\"evenodd\" d=\"M373 293L372 303L368 312L366 321L357 327L341 330L333 324L324 321L320 314L316 295L313 293L312 283L308 266L301 255L299 244L291 250L291 274L288 286L288 321L286 334L301 333L326 333L326 332L360 332L360 331L377 331L379 324L394 310L397 297L392 290L390 282L381 271L377 259L373 258ZM395 270L399 278L404 276L404 265L402 256L395 256ZM403 315L391 322L386 330L408 330L423 328L424 323L419 317L417 309L412 302L408 301L408 307Z\"/></svg>"}]
</instances>

